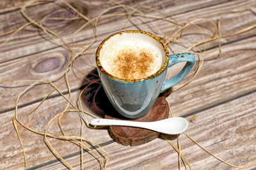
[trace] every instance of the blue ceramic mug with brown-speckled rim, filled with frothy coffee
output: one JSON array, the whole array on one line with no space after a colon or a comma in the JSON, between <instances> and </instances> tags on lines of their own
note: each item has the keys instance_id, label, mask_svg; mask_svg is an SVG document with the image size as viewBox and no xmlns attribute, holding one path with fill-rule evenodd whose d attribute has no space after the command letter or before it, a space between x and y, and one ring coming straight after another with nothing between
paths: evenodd
<instances>
[{"instance_id":1,"label":"blue ceramic mug with brown-speckled rim, filled with frothy coffee","mask_svg":"<svg viewBox=\"0 0 256 170\"><path fill-rule=\"evenodd\" d=\"M115 72L125 71L130 66L126 68L123 65L123 67L115 68L114 65L111 65L111 61L116 62L115 58L111 58L115 57L115 55L121 57L118 60L120 64L134 62L135 64L142 64L142 68L150 67L149 62L147 61L146 63L149 55L143 54L144 58L138 59L140 62L134 61L134 59L125 60L122 58L122 55L125 55L124 53L131 55L133 50L140 48L146 50L146 53L147 50L153 49L154 52L156 51L156 55L159 57L157 58L159 59L159 69L154 73L144 75L142 78L136 77L139 73L137 69L135 70L137 72L134 74L134 78L130 76L133 72L122 73L123 77L116 76ZM143 63L144 60L145 63ZM164 81L168 67L178 62L186 62L186 64L179 74L170 80ZM97 49L96 63L102 87L116 111L126 118L140 118L152 108L160 92L179 83L189 73L195 64L195 56L192 53L169 55L166 45L154 34L131 30L117 32L104 39ZM110 65L108 66L109 63ZM111 69L112 71L110 71Z\"/></svg>"}]
</instances>

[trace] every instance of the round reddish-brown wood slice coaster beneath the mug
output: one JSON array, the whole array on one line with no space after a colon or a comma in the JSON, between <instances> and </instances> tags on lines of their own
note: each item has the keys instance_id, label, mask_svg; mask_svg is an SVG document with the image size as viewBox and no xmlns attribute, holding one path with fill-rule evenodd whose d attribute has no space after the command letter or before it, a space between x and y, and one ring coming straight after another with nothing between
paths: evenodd
<instances>
[{"instance_id":1,"label":"round reddish-brown wood slice coaster beneath the mug","mask_svg":"<svg viewBox=\"0 0 256 170\"><path fill-rule=\"evenodd\" d=\"M86 89L84 89L86 88ZM104 118L122 119L122 117L109 102L100 81L97 70L94 69L84 78L81 90L84 89L82 99L84 103L97 115ZM144 117L134 119L138 122L153 122L168 118L169 107L165 97L158 97L156 103ZM136 127L109 126L109 136L122 145L142 145L158 138L159 132Z\"/></svg>"}]
</instances>

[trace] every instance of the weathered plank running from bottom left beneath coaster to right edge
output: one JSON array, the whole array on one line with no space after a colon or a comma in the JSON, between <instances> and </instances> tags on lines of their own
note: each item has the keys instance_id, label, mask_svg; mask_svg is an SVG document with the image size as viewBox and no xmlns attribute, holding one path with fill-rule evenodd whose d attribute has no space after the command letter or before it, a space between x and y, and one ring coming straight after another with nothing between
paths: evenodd
<instances>
[{"instance_id":1,"label":"weathered plank running from bottom left beneath coaster to right edge","mask_svg":"<svg viewBox=\"0 0 256 170\"><path fill-rule=\"evenodd\" d=\"M196 113L201 108L207 109L207 107L209 108L214 105L218 105L219 103L224 103L225 101L243 96L247 92L255 90L255 86L253 86L255 85L256 75L255 50L250 49L251 47L248 45L255 43L255 41L256 38L252 37L250 39L245 39L243 41L225 45L223 46L223 55L221 55L220 58L205 62L205 65L202 67L202 71L198 74L198 76L196 76L195 80L193 80L183 89L177 92L173 92L171 96L168 97L173 115L182 116ZM245 50L246 47L249 48L249 50ZM234 49L237 51L234 51ZM236 61L240 61L240 63L236 64ZM40 89L41 86L39 85L38 88ZM72 93L73 101L77 99L78 93L79 91ZM24 96L24 99L27 98L28 96ZM246 103L243 103L242 101L243 100L239 102L242 105L247 106ZM38 109L38 113L36 113L35 116L36 122L31 122L31 125L38 129L44 129L46 122L49 122L51 117L65 108L65 103L66 102L63 101L62 97L54 97L49 99L49 101L45 102L42 108ZM28 113L29 110L35 108L36 104L37 103L30 104L29 106L20 108L20 116L24 117L24 115ZM204 111L202 112L204 113ZM17 161L19 161L13 162L10 164L10 166L15 166L15 164L17 164L17 167L20 167L22 166L22 151L13 129L11 122L12 117L13 111L8 111L0 115L0 119L3 121L3 128L1 128L0 132L0 141L2 143L1 146L3 146L4 152L8 154L3 155L3 159L0 160L3 160L3 163L1 162L1 164L5 165L4 161L6 162L7 158L12 160L13 158L19 157L19 159L17 159ZM67 117L63 117L63 125L67 125L68 134L79 134L79 124L72 123L77 122L77 118L78 117L76 115L71 113L68 114ZM53 132L57 131L56 127L52 127L52 129ZM95 131L88 130L84 132L84 136L88 136L89 138L91 137L99 143L111 141L106 131L97 131L97 133L95 133ZM200 133L199 131L196 132ZM24 143L26 143L25 148L28 154L27 157L29 167L36 166L37 164L42 164L43 162L54 159L49 150L44 146L44 143L42 143L42 136L35 136L24 130L22 130L21 135L22 138L24 138ZM13 139L12 143L10 143L10 140L7 139L6 136L10 136L10 139ZM53 143L54 147L56 147L57 150L61 152L61 155L74 153L74 150L71 149L61 150L63 143L60 141L54 140ZM67 148L72 148L72 146L68 144L66 145ZM42 146L42 148L36 148L38 146ZM15 148L15 152L13 152L13 148ZM38 150L38 152L35 153L35 150ZM9 155L10 152L12 152L12 155ZM76 152L78 151L76 150ZM6 163L9 164L9 162Z\"/></svg>"}]
</instances>

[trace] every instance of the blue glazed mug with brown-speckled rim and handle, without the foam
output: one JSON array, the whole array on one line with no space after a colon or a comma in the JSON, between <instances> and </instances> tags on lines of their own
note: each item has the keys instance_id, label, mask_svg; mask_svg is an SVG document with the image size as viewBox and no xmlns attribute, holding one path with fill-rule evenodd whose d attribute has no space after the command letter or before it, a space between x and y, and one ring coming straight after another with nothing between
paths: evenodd
<instances>
[{"instance_id":1,"label":"blue glazed mug with brown-speckled rim and handle, without the foam","mask_svg":"<svg viewBox=\"0 0 256 170\"><path fill-rule=\"evenodd\" d=\"M157 73L140 80L122 80L107 73L99 61L100 49L102 48L102 45L104 45L104 42L111 38L111 36L102 41L97 50L97 71L109 101L111 101L115 109L122 116L127 118L140 118L146 115L150 108L152 108L161 91L169 89L176 83L179 83L179 81L181 81L186 74L189 73L195 64L195 56L192 53L180 53L169 56L168 50L163 41L149 32L122 31L116 34L120 33L146 34L147 36L151 36L152 38L156 39L156 41L161 43L165 53L163 66L159 69L159 71L157 71ZM115 34L112 36L115 36ZM187 63L179 74L170 80L164 81L167 68L177 64L178 62Z\"/></svg>"}]
</instances>

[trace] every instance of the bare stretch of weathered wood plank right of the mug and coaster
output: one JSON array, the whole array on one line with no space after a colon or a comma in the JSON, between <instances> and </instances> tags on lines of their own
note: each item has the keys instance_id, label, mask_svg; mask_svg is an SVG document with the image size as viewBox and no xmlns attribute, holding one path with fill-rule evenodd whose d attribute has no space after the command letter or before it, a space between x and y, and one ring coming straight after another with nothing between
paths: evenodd
<instances>
[{"instance_id":1,"label":"bare stretch of weathered wood plank right of the mug and coaster","mask_svg":"<svg viewBox=\"0 0 256 170\"><path fill-rule=\"evenodd\" d=\"M173 113L190 114L256 90L255 40L225 45L219 58L205 62L195 80L168 97Z\"/></svg>"}]
</instances>

